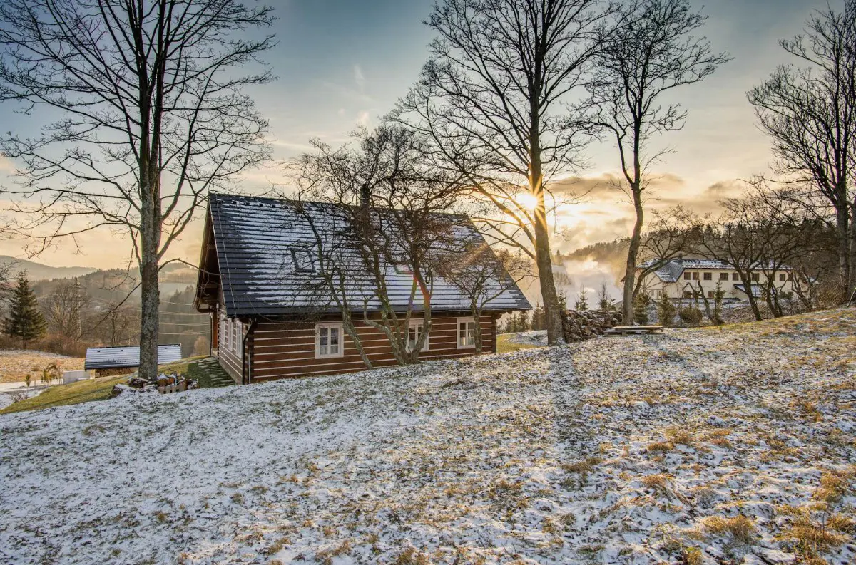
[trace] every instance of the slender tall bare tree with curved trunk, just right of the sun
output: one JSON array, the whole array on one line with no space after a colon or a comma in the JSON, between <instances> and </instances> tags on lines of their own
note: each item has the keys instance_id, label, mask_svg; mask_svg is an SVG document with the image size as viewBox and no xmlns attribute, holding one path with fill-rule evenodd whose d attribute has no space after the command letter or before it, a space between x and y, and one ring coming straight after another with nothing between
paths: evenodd
<instances>
[{"instance_id":1,"label":"slender tall bare tree with curved trunk, just right of the sun","mask_svg":"<svg viewBox=\"0 0 856 565\"><path fill-rule=\"evenodd\" d=\"M630 197L636 221L624 271L624 323L633 323L636 263L645 226L645 196L651 165L668 150L651 139L679 130L687 117L678 103L664 103L675 88L706 79L728 62L696 37L707 17L690 9L689 0L633 0L622 7L616 25L603 38L589 85L594 121L615 139L623 179L617 188Z\"/></svg>"}]
</instances>

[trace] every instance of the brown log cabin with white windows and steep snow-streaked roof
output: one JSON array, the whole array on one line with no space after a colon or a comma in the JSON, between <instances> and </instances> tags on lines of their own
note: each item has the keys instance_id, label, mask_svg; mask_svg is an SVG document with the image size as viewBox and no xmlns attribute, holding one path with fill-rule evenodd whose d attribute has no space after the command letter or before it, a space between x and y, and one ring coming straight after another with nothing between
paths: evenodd
<instances>
[{"instance_id":1,"label":"brown log cabin with white windows and steep snow-streaked roof","mask_svg":"<svg viewBox=\"0 0 856 565\"><path fill-rule=\"evenodd\" d=\"M336 297L324 296L329 285L318 284L324 271L324 229L333 229L336 207L293 203L262 197L211 194L205 216L195 306L211 314L211 354L235 382L339 374L361 371L366 364L345 332ZM457 216L460 218L460 216ZM468 219L455 222L449 248L463 250L465 240L484 238ZM333 238L324 239L331 242ZM339 249L336 240L329 247ZM347 246L347 244L346 244ZM332 252L332 251L330 251ZM496 259L492 252L490 257ZM498 261L498 260L497 260ZM355 265L359 262L355 262ZM502 269L500 269L502 270ZM350 312L354 329L375 368L395 365L392 345L382 330L363 321L377 319L379 304L354 267L347 290L360 309ZM411 295L413 274L400 265L383 272L389 302L396 314L408 310L408 343L422 331L424 308ZM479 324L482 350L496 351L496 321L505 313L531 309L520 288L508 279L496 281L496 296L484 303L474 320L470 300L440 276L431 280L431 329L419 360L449 359L475 354L474 327ZM330 291L327 291L328 294ZM352 296L353 295L353 296ZM355 297L359 299L355 299Z\"/></svg>"}]
</instances>

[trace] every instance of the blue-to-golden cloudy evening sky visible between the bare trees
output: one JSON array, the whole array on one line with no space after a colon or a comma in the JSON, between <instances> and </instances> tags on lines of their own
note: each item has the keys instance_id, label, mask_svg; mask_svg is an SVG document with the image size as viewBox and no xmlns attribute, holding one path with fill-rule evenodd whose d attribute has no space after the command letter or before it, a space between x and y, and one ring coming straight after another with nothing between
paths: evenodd
<instances>
[{"instance_id":1,"label":"blue-to-golden cloudy evening sky visible between the bare trees","mask_svg":"<svg viewBox=\"0 0 856 565\"><path fill-rule=\"evenodd\" d=\"M740 180L767 172L770 144L758 131L746 91L788 62L778 40L799 33L812 9L826 0L693 0L710 19L704 34L716 51L733 60L698 85L677 92L688 112L680 132L663 144L674 150L657 164L653 208L685 203L699 211L740 191ZM354 127L376 125L405 95L427 57L431 30L422 21L431 0L273 0L278 43L267 60L276 81L253 89L262 115L270 120L276 159L308 150L310 138L339 144ZM835 6L835 0L833 0ZM15 114L14 103L0 103L0 130L27 134L35 118ZM605 190L618 172L617 151L609 142L593 144L588 166L566 180L591 188L587 201L557 210L554 244L563 251L627 235L632 209L618 191ZM14 183L15 163L0 156L0 185ZM241 179L244 191L265 191L282 182L282 172L266 168ZM8 204L0 202L0 205ZM0 212L3 215L3 212ZM195 262L201 222L191 226L170 256ZM0 240L0 255L26 256L26 242ZM80 249L61 244L35 258L55 266L111 268L127 263L127 240L110 232L79 238Z\"/></svg>"}]
</instances>

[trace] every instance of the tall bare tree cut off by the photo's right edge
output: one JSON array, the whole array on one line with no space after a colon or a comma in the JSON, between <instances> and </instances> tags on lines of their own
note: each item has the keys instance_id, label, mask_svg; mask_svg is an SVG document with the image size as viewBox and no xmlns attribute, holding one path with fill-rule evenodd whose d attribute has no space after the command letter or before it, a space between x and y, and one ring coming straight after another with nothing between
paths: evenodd
<instances>
[{"instance_id":1,"label":"tall bare tree cut off by the photo's right edge","mask_svg":"<svg viewBox=\"0 0 856 565\"><path fill-rule=\"evenodd\" d=\"M803 187L798 201L835 225L841 281L850 294L856 286L856 1L846 0L841 11L814 12L805 34L780 43L799 64L777 68L749 91L749 102L772 142L776 173ZM825 205L817 206L818 199Z\"/></svg>"}]
</instances>

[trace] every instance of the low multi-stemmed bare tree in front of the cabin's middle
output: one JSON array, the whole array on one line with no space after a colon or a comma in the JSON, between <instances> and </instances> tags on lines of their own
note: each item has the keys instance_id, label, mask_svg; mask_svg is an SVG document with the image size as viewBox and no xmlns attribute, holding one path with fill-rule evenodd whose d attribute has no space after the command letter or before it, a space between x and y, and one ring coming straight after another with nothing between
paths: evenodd
<instances>
[{"instance_id":1,"label":"low multi-stemmed bare tree in front of the cabin's middle","mask_svg":"<svg viewBox=\"0 0 856 565\"><path fill-rule=\"evenodd\" d=\"M332 206L324 226L310 213L321 279L317 293L333 300L342 311L343 327L363 352L351 321L362 312L363 321L383 331L401 364L415 362L431 331L431 294L437 262L453 242L451 229L461 218L446 214L459 196L459 175L437 168L425 139L395 125L354 133L355 145L332 148L315 140L316 151L296 163L300 200ZM412 279L407 308L402 313L389 288L390 270L403 269ZM361 283L365 283L361 284ZM354 293L354 287L372 288ZM368 304L379 303L379 319ZM422 314L422 330L410 337L414 312Z\"/></svg>"}]
</instances>

